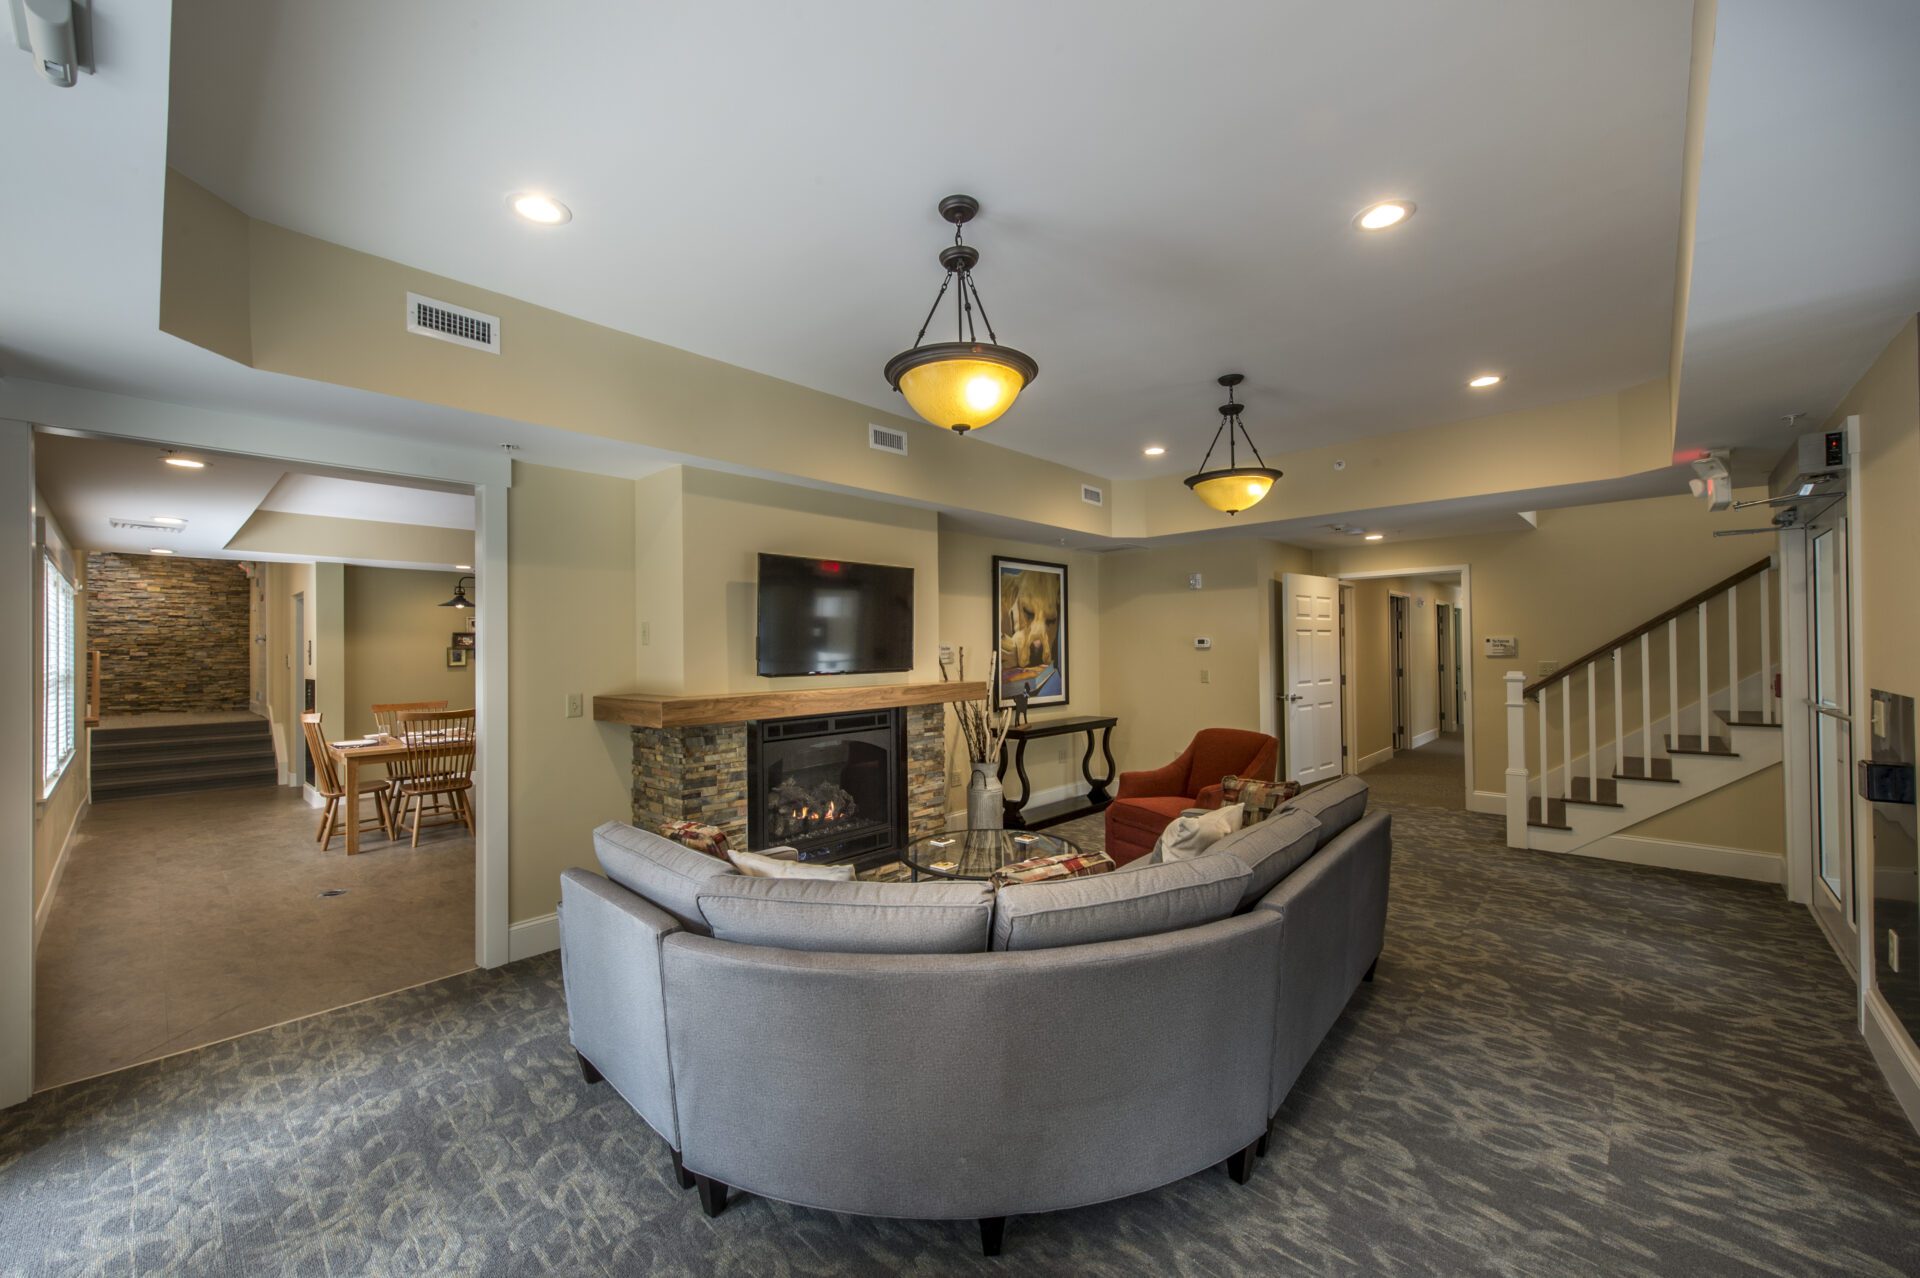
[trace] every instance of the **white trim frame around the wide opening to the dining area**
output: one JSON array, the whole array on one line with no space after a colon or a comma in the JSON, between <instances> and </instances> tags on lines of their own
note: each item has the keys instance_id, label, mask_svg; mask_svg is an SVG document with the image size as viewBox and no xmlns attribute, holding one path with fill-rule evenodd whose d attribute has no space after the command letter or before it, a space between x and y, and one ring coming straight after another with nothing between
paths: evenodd
<instances>
[{"instance_id":1,"label":"white trim frame around the wide opening to the dining area","mask_svg":"<svg viewBox=\"0 0 1920 1278\"><path fill-rule=\"evenodd\" d=\"M372 407L372 399L369 399ZM374 409L378 411L378 409ZM0 388L0 474L17 484L0 485L0 526L13 533L15 547L31 547L33 426L58 434L132 439L156 447L188 447L236 453L307 466L349 468L413 480L436 480L472 487L474 568L484 591L474 629L474 708L486 731L476 754L480 802L474 839L474 961L501 967L509 961L509 700L507 700L507 489L513 461L505 453L482 453L411 439L338 422L230 413L136 399L106 391L15 380ZM23 462L15 470L12 462ZM17 564L13 560L19 560ZM0 556L0 591L15 593L17 566L29 566L27 553ZM31 589L33 578L19 591ZM10 616L25 614L25 616ZM33 775L35 698L31 662L36 649L31 608L0 608L0 723L25 725L0 731L0 773L15 779ZM15 651L19 649L19 651ZM25 664L21 664L25 662ZM17 685L17 687L15 687ZM25 748L27 762L19 762ZM0 1107L27 1100L33 1092L33 794L25 785L0 787ZM21 791L21 793L13 793ZM23 890L15 890L15 888Z\"/></svg>"}]
</instances>

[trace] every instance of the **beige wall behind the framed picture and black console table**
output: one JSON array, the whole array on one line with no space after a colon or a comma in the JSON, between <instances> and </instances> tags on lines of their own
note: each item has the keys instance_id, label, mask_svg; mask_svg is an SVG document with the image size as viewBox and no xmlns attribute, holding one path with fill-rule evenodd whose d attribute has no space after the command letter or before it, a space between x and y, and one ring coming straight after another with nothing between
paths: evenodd
<instances>
[{"instance_id":1,"label":"beige wall behind the framed picture and black console table","mask_svg":"<svg viewBox=\"0 0 1920 1278\"><path fill-rule=\"evenodd\" d=\"M979 533L962 532L948 520L939 526L939 643L952 647L954 656L966 647L968 677L983 677L987 660L995 651L995 608L993 556L1041 560L1068 566L1068 697L1066 706L1035 708L1029 722L1043 723L1048 718L1077 714L1102 714L1100 654L1104 649L1104 627L1100 626L1102 595L1100 570L1106 556L1091 551L1069 551L1062 545L1039 545L1031 541L1002 541ZM956 670L958 674L958 670ZM966 810L966 787L972 775L968 768L966 745L952 716L947 718L947 810ZM1085 791L1081 777L1081 752L1087 739L1044 737L1027 746L1027 777L1035 791L1073 787ZM1117 756L1116 756L1117 758ZM1094 754L1094 775L1104 768L1104 760ZM1012 766L1006 773L1006 787L1018 791L1020 781Z\"/></svg>"}]
</instances>

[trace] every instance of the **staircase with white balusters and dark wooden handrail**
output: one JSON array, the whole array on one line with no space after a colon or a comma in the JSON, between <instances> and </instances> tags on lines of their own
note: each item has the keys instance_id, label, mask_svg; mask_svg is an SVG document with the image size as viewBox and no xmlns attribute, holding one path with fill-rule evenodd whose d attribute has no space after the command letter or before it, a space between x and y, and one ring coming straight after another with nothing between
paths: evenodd
<instances>
[{"instance_id":1,"label":"staircase with white balusters and dark wooden handrail","mask_svg":"<svg viewBox=\"0 0 1920 1278\"><path fill-rule=\"evenodd\" d=\"M1774 591L1766 558L1532 683L1509 672L1507 846L1578 852L1778 764Z\"/></svg>"}]
</instances>

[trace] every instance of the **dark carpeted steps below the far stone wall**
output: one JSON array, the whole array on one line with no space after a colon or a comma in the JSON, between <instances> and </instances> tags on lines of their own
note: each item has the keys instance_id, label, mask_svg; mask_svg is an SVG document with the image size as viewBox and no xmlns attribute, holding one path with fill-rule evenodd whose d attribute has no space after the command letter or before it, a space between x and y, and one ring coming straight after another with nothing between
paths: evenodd
<instances>
[{"instance_id":1,"label":"dark carpeted steps below the far stone wall","mask_svg":"<svg viewBox=\"0 0 1920 1278\"><path fill-rule=\"evenodd\" d=\"M92 800L275 785L278 764L267 720L96 727Z\"/></svg>"}]
</instances>

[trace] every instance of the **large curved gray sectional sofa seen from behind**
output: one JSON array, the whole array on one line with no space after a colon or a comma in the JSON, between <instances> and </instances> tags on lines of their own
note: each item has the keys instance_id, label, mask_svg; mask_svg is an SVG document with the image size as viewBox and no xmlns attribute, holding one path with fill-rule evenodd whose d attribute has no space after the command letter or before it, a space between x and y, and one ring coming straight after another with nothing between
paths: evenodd
<instances>
[{"instance_id":1,"label":"large curved gray sectional sofa seen from behind","mask_svg":"<svg viewBox=\"0 0 1920 1278\"><path fill-rule=\"evenodd\" d=\"M749 879L630 825L561 879L572 1042L718 1215L730 1188L1006 1217L1227 1163L1386 929L1392 833L1340 779L1206 854L1089 879Z\"/></svg>"}]
</instances>

